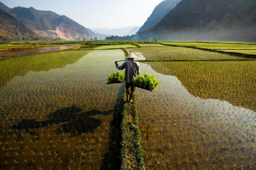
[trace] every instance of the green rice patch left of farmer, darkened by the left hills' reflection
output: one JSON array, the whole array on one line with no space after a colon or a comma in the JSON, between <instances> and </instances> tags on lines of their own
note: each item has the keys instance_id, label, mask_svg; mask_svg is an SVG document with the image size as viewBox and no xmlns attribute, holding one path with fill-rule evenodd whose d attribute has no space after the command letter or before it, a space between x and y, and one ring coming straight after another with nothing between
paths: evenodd
<instances>
[{"instance_id":1,"label":"green rice patch left of farmer, darkened by the left hills' reflection","mask_svg":"<svg viewBox=\"0 0 256 170\"><path fill-rule=\"evenodd\" d=\"M43 71L72 64L90 51L61 51L36 54L0 61L0 89L15 76L24 76L29 71Z\"/></svg>"}]
</instances>

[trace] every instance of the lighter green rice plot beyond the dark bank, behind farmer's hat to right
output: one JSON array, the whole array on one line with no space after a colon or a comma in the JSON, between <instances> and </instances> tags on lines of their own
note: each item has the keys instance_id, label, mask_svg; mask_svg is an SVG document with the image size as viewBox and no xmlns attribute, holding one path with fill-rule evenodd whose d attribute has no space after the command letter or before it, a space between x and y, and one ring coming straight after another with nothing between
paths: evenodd
<instances>
[{"instance_id":1,"label":"lighter green rice plot beyond the dark bank, behind farmer's hat to right","mask_svg":"<svg viewBox=\"0 0 256 170\"><path fill-rule=\"evenodd\" d=\"M242 57L223 55L185 47L142 47L126 49L129 53L142 53L147 60L239 60Z\"/></svg>"}]
</instances>

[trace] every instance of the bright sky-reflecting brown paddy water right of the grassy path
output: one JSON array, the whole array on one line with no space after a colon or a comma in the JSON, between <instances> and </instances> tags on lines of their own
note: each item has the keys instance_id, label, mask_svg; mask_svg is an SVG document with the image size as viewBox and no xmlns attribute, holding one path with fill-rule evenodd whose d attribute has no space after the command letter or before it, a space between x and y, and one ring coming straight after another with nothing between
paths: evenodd
<instances>
[{"instance_id":1,"label":"bright sky-reflecting brown paddy water right of the grassy path","mask_svg":"<svg viewBox=\"0 0 256 170\"><path fill-rule=\"evenodd\" d=\"M256 112L192 96L175 76L140 66L160 82L136 90L147 169L256 168Z\"/></svg>"}]
</instances>

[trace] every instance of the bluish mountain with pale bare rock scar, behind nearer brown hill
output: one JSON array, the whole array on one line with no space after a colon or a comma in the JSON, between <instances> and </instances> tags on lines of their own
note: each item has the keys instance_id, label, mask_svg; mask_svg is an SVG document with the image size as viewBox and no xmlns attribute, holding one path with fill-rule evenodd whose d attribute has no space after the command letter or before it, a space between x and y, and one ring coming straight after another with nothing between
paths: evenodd
<instances>
[{"instance_id":1,"label":"bluish mountain with pale bare rock scar, behind nearer brown hill","mask_svg":"<svg viewBox=\"0 0 256 170\"><path fill-rule=\"evenodd\" d=\"M92 30L52 11L36 10L33 7L15 7L11 9L4 4L0 4L0 9L5 9L6 13L9 13L17 21L29 27L32 30L32 32L28 33L31 35L30 39L43 37L46 39L86 40L97 37ZM9 18L2 18L2 20L9 20ZM20 33L24 34L21 29ZM2 37L8 38L4 37L4 35Z\"/></svg>"}]
</instances>

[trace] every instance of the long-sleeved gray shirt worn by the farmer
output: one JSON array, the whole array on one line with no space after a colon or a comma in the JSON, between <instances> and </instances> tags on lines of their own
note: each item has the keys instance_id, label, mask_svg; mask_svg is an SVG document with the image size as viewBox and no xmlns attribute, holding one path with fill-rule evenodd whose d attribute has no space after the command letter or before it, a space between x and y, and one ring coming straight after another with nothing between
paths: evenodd
<instances>
[{"instance_id":1,"label":"long-sleeved gray shirt worn by the farmer","mask_svg":"<svg viewBox=\"0 0 256 170\"><path fill-rule=\"evenodd\" d=\"M136 61L127 60L122 65L116 64L118 70L123 70L125 68L124 80L127 83L133 82L133 78L140 74L140 66Z\"/></svg>"}]
</instances>

